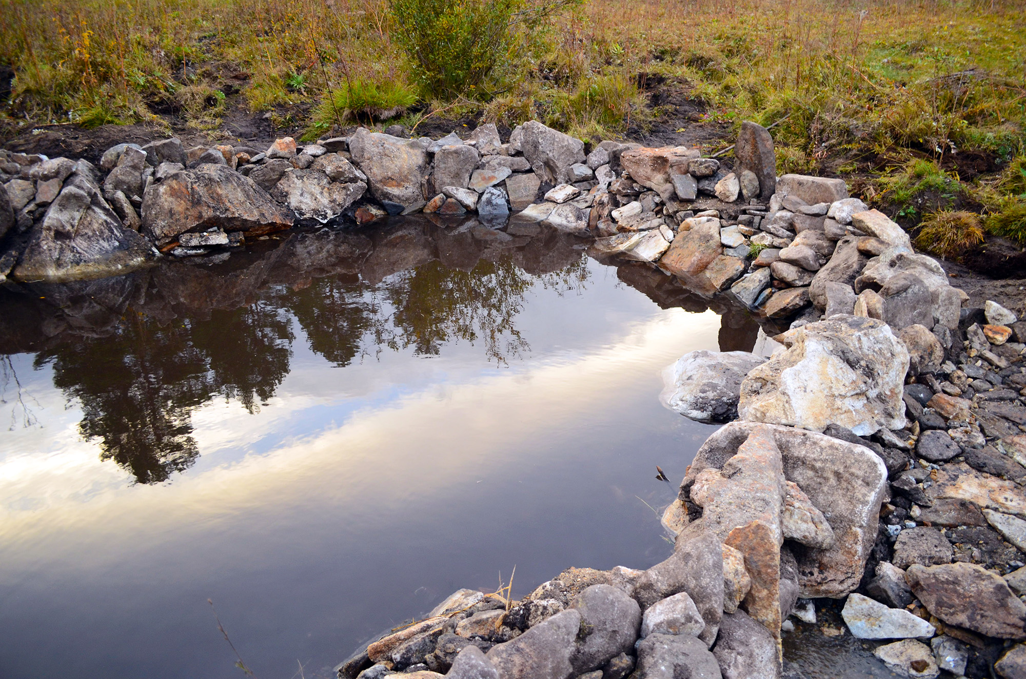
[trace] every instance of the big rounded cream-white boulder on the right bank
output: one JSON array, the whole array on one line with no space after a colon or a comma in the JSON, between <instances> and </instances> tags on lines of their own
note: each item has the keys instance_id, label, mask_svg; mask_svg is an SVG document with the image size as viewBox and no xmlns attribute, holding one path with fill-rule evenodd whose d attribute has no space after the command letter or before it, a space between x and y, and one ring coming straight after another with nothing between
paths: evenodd
<instances>
[{"instance_id":1,"label":"big rounded cream-white boulder on the right bank","mask_svg":"<svg viewBox=\"0 0 1026 679\"><path fill-rule=\"evenodd\" d=\"M741 384L742 420L868 436L905 426L908 351L882 321L835 316L776 337L787 347Z\"/></svg>"}]
</instances>

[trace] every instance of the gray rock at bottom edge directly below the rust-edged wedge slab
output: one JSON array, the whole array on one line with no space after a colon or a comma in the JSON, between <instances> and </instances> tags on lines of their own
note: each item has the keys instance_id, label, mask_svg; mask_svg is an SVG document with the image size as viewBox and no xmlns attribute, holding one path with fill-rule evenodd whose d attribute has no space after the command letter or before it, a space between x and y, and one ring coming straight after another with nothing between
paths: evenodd
<instances>
[{"instance_id":1,"label":"gray rock at bottom edge directly below the rust-edged wedge slab","mask_svg":"<svg viewBox=\"0 0 1026 679\"><path fill-rule=\"evenodd\" d=\"M719 663L723 679L780 677L777 640L742 610L723 615L712 652Z\"/></svg>"}]
</instances>

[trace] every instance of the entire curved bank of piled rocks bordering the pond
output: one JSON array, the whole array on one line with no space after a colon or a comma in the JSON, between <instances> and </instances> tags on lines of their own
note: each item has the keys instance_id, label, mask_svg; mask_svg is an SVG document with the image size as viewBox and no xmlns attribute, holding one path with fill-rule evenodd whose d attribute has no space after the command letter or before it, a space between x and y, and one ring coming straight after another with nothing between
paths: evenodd
<instances>
[{"instance_id":1,"label":"entire curved bank of piled rocks bordering the pond","mask_svg":"<svg viewBox=\"0 0 1026 679\"><path fill-rule=\"evenodd\" d=\"M539 224L592 238L596 257L729 296L780 347L695 352L668 371L671 407L725 423L664 513L669 559L573 568L518 601L460 590L341 677L800 676L782 634L790 616L815 622L820 599L844 600L849 631L886 640L874 652L899 674L1026 677L1026 322L994 302L963 308L842 181L777 177L752 123L733 167L684 148L585 154L538 122L507 142L490 125L468 139L389 131L119 145L100 168L3 152L0 274L96 278L224 259L297 225L473 214L506 236Z\"/></svg>"}]
</instances>

